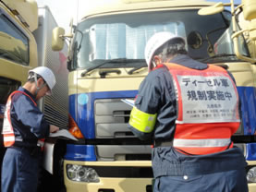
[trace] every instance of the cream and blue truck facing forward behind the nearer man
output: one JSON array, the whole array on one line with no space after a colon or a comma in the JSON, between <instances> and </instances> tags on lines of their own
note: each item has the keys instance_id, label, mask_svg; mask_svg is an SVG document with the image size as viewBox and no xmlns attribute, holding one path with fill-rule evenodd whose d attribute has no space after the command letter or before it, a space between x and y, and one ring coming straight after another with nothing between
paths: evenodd
<instances>
[{"instance_id":1,"label":"cream and blue truck facing forward behind the nearer man","mask_svg":"<svg viewBox=\"0 0 256 192\"><path fill-rule=\"evenodd\" d=\"M254 0L120 0L89 8L72 33L55 28L53 50L70 38L68 125L79 139L62 157L67 191L152 191L152 141L129 131L131 106L122 101L136 97L148 74L145 44L158 31L184 37L191 58L233 74L241 125L232 140L244 151L256 191L255 13Z\"/></svg>"}]
</instances>

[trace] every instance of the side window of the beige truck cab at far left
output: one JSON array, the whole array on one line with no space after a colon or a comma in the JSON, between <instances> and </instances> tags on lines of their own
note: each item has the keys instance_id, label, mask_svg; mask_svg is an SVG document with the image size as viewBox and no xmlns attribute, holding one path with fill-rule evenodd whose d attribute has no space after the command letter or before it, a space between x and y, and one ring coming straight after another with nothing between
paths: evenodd
<instances>
[{"instance_id":1,"label":"side window of the beige truck cab at far left","mask_svg":"<svg viewBox=\"0 0 256 192\"><path fill-rule=\"evenodd\" d=\"M29 39L4 14L0 15L0 57L29 65Z\"/></svg>"}]
</instances>

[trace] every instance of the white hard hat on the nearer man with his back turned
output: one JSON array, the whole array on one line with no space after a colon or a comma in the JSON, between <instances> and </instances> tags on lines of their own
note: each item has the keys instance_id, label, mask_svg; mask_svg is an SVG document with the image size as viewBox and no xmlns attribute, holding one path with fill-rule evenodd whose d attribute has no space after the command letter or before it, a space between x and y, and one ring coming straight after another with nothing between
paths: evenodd
<instances>
[{"instance_id":1,"label":"white hard hat on the nearer man with his back turned","mask_svg":"<svg viewBox=\"0 0 256 192\"><path fill-rule=\"evenodd\" d=\"M149 71L152 69L151 68L152 55L155 53L155 51L158 48L160 48L163 44L165 44L165 42L168 42L174 39L181 39L185 43L184 38L167 31L157 32L152 35L152 37L149 39L145 47L145 59L146 59Z\"/></svg>"}]
</instances>

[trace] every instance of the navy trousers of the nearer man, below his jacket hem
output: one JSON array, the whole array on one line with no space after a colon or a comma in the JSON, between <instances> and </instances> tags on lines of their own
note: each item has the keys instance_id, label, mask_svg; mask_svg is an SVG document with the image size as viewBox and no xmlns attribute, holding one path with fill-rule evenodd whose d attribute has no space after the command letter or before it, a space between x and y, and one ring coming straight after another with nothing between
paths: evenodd
<instances>
[{"instance_id":1,"label":"navy trousers of the nearer man, below his jacket hem","mask_svg":"<svg viewBox=\"0 0 256 192\"><path fill-rule=\"evenodd\" d=\"M160 176L153 192L248 192L245 170L225 173Z\"/></svg>"}]
</instances>

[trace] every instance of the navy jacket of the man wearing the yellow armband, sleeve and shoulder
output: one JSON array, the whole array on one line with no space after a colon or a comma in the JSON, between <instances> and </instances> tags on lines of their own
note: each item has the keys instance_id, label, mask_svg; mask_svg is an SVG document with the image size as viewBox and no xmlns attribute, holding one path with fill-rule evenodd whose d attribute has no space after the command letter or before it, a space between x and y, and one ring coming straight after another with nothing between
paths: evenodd
<instances>
[{"instance_id":1,"label":"navy jacket of the man wearing the yellow armband, sleeve and shoulder","mask_svg":"<svg viewBox=\"0 0 256 192\"><path fill-rule=\"evenodd\" d=\"M208 67L206 64L192 60L184 54L177 55L170 63L199 70ZM140 139L153 138L154 140L163 141L173 138L177 119L177 101L172 77L166 66L152 70L144 78L140 84L135 105L142 112L157 114L155 129L152 133L140 133L130 127Z\"/></svg>"}]
</instances>

